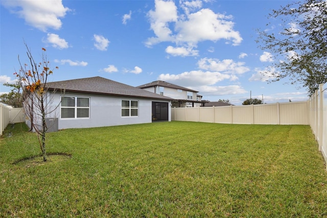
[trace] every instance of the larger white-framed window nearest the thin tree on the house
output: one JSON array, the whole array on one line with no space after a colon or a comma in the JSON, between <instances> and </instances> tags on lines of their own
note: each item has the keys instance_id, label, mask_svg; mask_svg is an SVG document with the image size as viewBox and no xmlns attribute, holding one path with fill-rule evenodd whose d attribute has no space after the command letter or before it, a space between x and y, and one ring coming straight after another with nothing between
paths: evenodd
<instances>
[{"instance_id":1,"label":"larger white-framed window nearest the thin tree on the house","mask_svg":"<svg viewBox=\"0 0 327 218\"><path fill-rule=\"evenodd\" d=\"M90 99L61 96L61 118L89 118Z\"/></svg>"}]
</instances>

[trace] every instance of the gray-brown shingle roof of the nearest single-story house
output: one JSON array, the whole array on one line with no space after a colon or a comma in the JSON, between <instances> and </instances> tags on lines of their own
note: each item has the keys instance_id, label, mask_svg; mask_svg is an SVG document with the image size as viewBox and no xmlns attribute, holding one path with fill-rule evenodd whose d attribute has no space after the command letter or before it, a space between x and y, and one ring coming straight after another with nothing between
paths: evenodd
<instances>
[{"instance_id":1,"label":"gray-brown shingle roof of the nearest single-story house","mask_svg":"<svg viewBox=\"0 0 327 218\"><path fill-rule=\"evenodd\" d=\"M46 86L48 86L49 90L64 90L65 92L172 100L167 96L158 95L100 76L48 82Z\"/></svg>"}]
</instances>

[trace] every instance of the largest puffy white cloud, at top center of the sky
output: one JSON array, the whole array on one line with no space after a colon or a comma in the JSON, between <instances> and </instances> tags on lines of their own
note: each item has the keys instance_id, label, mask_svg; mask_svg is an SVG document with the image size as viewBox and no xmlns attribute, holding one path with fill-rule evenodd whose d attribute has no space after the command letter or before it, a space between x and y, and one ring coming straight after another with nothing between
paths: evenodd
<instances>
[{"instance_id":1,"label":"largest puffy white cloud, at top center of the sky","mask_svg":"<svg viewBox=\"0 0 327 218\"><path fill-rule=\"evenodd\" d=\"M233 45L239 45L243 40L238 31L233 30L232 16L213 12L211 9L201 9L200 1L182 2L185 14L177 14L177 7L172 1L155 1L155 10L150 10L150 28L155 37L148 38L146 46L169 41L186 47L196 47L199 41L217 41L225 39ZM173 32L174 30L174 32ZM185 46L183 46L185 47Z\"/></svg>"}]
</instances>

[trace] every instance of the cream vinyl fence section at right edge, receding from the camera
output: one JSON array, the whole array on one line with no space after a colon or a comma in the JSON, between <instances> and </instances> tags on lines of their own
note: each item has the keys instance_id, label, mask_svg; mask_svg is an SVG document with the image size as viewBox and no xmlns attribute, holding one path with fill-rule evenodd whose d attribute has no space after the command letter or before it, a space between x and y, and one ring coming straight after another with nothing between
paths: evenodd
<instances>
[{"instance_id":1,"label":"cream vinyl fence section at right edge, receding from the camera","mask_svg":"<svg viewBox=\"0 0 327 218\"><path fill-rule=\"evenodd\" d=\"M319 85L319 90L316 90L315 94L310 97L309 104L312 133L327 163L327 83Z\"/></svg>"}]
</instances>

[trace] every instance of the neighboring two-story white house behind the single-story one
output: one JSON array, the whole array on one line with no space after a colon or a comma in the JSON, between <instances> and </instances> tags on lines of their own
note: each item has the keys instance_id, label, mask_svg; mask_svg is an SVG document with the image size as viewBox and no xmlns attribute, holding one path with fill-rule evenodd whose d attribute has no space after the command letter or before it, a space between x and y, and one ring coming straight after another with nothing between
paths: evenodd
<instances>
[{"instance_id":1,"label":"neighboring two-story white house behind the single-story one","mask_svg":"<svg viewBox=\"0 0 327 218\"><path fill-rule=\"evenodd\" d=\"M197 94L198 91L160 80L139 85L136 88L173 98L172 107L203 106L207 102L201 101L202 96Z\"/></svg>"}]
</instances>

